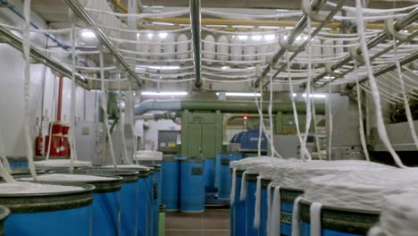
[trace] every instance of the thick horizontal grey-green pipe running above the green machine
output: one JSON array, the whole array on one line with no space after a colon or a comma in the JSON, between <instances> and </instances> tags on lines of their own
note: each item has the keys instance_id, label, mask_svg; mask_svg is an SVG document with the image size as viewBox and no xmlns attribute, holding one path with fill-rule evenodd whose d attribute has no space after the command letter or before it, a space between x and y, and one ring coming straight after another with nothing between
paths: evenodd
<instances>
[{"instance_id":1,"label":"thick horizontal grey-green pipe running above the green machine","mask_svg":"<svg viewBox=\"0 0 418 236\"><path fill-rule=\"evenodd\" d=\"M263 103L263 113L268 112L268 102ZM297 112L306 113L305 102L296 102ZM315 103L316 114L325 114L325 105ZM146 100L139 105L135 105L135 115L146 114L150 111L221 111L222 113L248 113L258 114L258 108L254 101L220 101L220 100ZM290 102L273 102L272 113L293 113Z\"/></svg>"}]
</instances>

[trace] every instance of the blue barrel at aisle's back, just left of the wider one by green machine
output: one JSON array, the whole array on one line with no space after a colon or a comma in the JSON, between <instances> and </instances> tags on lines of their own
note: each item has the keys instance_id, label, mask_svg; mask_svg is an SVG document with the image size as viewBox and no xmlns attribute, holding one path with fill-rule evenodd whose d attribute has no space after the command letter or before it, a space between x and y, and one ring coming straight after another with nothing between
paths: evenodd
<instances>
[{"instance_id":1,"label":"blue barrel at aisle's back, just left of the wider one by green machine","mask_svg":"<svg viewBox=\"0 0 418 236\"><path fill-rule=\"evenodd\" d=\"M162 173L162 202L166 211L179 210L179 177L180 164L176 156L163 156Z\"/></svg>"}]
</instances>

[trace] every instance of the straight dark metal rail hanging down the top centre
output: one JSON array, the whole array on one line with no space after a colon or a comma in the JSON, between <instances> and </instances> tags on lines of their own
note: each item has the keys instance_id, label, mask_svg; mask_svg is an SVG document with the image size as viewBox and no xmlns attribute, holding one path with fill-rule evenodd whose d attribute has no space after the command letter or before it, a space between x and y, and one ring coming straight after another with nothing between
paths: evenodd
<instances>
[{"instance_id":1,"label":"straight dark metal rail hanging down the top centre","mask_svg":"<svg viewBox=\"0 0 418 236\"><path fill-rule=\"evenodd\" d=\"M201 50L200 50L200 22L201 22L201 13L200 13L200 0L190 0L190 22L191 22L191 35L193 41L193 58L195 65L195 86L200 88L202 86L201 76Z\"/></svg>"}]
</instances>

